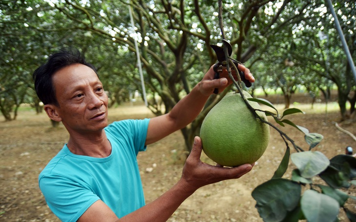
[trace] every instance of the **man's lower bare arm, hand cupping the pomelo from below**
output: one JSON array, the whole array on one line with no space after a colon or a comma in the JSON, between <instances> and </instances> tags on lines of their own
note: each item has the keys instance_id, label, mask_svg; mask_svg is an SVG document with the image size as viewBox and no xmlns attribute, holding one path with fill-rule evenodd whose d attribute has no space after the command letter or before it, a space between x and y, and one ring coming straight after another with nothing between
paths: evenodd
<instances>
[{"instance_id":1,"label":"man's lower bare arm, hand cupping the pomelo from below","mask_svg":"<svg viewBox=\"0 0 356 222\"><path fill-rule=\"evenodd\" d=\"M92 204L78 222L165 222L198 188L223 180L237 179L252 169L245 164L233 168L212 166L200 161L201 140L194 139L194 145L183 167L183 173L176 185L155 201L119 219L102 201Z\"/></svg>"}]
</instances>

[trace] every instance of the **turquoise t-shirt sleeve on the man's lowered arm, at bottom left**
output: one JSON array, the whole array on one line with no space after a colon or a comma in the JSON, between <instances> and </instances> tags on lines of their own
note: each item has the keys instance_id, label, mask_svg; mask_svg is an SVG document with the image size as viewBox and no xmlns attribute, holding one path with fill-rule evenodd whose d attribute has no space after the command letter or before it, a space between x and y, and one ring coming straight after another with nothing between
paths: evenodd
<instances>
[{"instance_id":1,"label":"turquoise t-shirt sleeve on the man's lowered arm, at bottom left","mask_svg":"<svg viewBox=\"0 0 356 222\"><path fill-rule=\"evenodd\" d=\"M100 199L90 189L61 175L43 176L39 184L49 208L62 222L76 222Z\"/></svg>"}]
</instances>

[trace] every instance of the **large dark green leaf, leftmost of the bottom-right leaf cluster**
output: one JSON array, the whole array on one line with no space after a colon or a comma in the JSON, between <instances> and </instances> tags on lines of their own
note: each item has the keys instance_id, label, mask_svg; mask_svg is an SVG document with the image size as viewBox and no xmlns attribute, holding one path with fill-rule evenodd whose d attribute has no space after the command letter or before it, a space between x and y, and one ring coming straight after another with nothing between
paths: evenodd
<instances>
[{"instance_id":1,"label":"large dark green leaf, leftmost of the bottom-right leaf cluster","mask_svg":"<svg viewBox=\"0 0 356 222\"><path fill-rule=\"evenodd\" d=\"M258 185L252 191L256 208L264 222L282 221L300 200L301 186L293 181L276 178Z\"/></svg>"}]
</instances>

